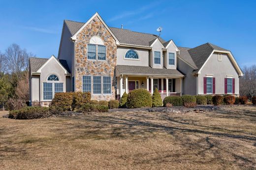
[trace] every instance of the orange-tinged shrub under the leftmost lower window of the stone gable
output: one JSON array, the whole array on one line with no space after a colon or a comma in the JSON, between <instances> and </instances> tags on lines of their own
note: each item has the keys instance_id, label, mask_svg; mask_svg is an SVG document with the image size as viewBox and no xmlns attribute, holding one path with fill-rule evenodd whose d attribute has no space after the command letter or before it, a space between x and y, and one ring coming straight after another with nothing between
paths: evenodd
<instances>
[{"instance_id":1,"label":"orange-tinged shrub under the leftmost lower window of the stone gable","mask_svg":"<svg viewBox=\"0 0 256 170\"><path fill-rule=\"evenodd\" d=\"M72 92L73 94L73 103L72 110L76 110L80 108L82 105L89 103L91 101L91 93L90 92Z\"/></svg>"}]
</instances>

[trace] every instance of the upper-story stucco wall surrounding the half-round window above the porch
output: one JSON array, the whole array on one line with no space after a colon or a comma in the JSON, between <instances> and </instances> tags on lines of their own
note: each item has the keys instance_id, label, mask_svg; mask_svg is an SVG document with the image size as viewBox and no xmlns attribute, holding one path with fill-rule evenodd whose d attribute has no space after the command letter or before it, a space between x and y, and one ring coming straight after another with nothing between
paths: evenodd
<instances>
[{"instance_id":1,"label":"upper-story stucco wall surrounding the half-round window above the porch","mask_svg":"<svg viewBox=\"0 0 256 170\"><path fill-rule=\"evenodd\" d=\"M125 58L128 50L135 50L139 59ZM149 66L149 51L145 49L131 49L126 47L117 48L117 65L136 65L136 66Z\"/></svg>"}]
</instances>

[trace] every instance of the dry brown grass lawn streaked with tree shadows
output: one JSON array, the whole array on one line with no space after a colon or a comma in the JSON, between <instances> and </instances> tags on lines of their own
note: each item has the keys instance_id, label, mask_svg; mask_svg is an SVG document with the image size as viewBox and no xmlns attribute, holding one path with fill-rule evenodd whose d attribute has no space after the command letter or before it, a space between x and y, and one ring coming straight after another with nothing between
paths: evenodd
<instances>
[{"instance_id":1,"label":"dry brown grass lawn streaked with tree shadows","mask_svg":"<svg viewBox=\"0 0 256 170\"><path fill-rule=\"evenodd\" d=\"M256 169L256 107L2 118L0 169Z\"/></svg>"}]
</instances>

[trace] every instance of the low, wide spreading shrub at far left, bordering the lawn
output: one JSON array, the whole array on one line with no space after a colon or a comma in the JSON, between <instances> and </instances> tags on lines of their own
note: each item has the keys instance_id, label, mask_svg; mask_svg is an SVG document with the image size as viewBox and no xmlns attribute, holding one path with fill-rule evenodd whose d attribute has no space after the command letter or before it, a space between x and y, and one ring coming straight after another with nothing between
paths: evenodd
<instances>
[{"instance_id":1,"label":"low, wide spreading shrub at far left, bordering the lawn","mask_svg":"<svg viewBox=\"0 0 256 170\"><path fill-rule=\"evenodd\" d=\"M9 113L9 118L14 119L34 119L44 118L52 115L47 107L26 107L20 110L13 110Z\"/></svg>"}]
</instances>

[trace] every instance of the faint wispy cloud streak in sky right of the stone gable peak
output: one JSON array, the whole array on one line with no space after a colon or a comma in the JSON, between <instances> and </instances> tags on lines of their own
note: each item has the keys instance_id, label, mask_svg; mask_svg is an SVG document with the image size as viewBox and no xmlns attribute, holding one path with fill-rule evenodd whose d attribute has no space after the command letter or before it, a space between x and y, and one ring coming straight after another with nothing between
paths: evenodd
<instances>
[{"instance_id":1,"label":"faint wispy cloud streak in sky right of the stone gable peak","mask_svg":"<svg viewBox=\"0 0 256 170\"><path fill-rule=\"evenodd\" d=\"M160 2L153 2L153 3L150 3L149 5L142 6L140 8L134 9L132 11L125 11L125 12L119 14L119 15L116 15L116 16L110 18L108 21L112 22L112 21L116 21L116 20L123 19L123 18L126 18L126 17L130 17L130 16L134 16L134 15L137 15L137 14L141 14L144 11L155 7L159 3ZM147 19L147 18L145 18L145 19Z\"/></svg>"}]
</instances>

